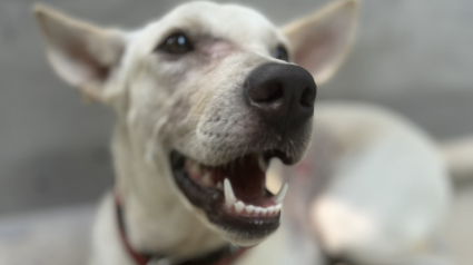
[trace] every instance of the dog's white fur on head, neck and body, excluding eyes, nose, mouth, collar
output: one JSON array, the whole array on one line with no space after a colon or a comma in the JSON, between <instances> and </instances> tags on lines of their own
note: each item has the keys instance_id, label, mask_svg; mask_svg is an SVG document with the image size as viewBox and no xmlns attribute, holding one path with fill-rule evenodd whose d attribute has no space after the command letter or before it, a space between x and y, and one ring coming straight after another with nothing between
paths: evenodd
<instances>
[{"instance_id":1,"label":"dog's white fur on head, neck and body, excluding eyes, nose, mouth, collar","mask_svg":"<svg viewBox=\"0 0 473 265\"><path fill-rule=\"evenodd\" d=\"M132 32L36 8L56 71L117 111L115 192L124 202L135 249L180 258L228 241L249 245L264 239L245 242L210 224L176 187L169 150L218 165L253 148L249 139L257 125L234 97L246 75L260 63L278 61L270 49L283 43L295 62L323 84L353 40L356 7L354 0L342 0L279 30L248 8L191 2ZM196 55L169 60L155 51L176 29L200 39ZM332 171L328 184L304 196L307 185L300 185L300 193L295 185L283 227L238 264L323 264L321 247L366 264L424 255L416 253L416 245L428 241L449 200L445 166L428 137L381 109L345 104L317 107L314 121L313 145L333 144L325 149L334 153L325 164ZM213 145L227 148L218 153L209 148ZM308 146L295 156L300 158L306 148L324 156ZM268 181L277 183L276 175ZM304 179L312 183L317 177L309 174ZM91 264L132 264L117 233L109 194L98 214Z\"/></svg>"}]
</instances>

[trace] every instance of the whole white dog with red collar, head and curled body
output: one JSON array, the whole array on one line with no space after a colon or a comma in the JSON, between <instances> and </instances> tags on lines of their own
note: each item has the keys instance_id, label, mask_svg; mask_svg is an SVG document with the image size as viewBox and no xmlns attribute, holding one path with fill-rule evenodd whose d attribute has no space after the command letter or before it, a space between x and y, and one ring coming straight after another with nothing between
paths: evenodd
<instances>
[{"instance_id":1,"label":"whole white dog with red collar, head and curled body","mask_svg":"<svg viewBox=\"0 0 473 265\"><path fill-rule=\"evenodd\" d=\"M282 29L210 2L130 32L35 11L57 73L118 117L91 264L438 262L428 244L450 185L435 145L376 107L314 110L355 0ZM267 170L272 158L298 164Z\"/></svg>"}]
</instances>

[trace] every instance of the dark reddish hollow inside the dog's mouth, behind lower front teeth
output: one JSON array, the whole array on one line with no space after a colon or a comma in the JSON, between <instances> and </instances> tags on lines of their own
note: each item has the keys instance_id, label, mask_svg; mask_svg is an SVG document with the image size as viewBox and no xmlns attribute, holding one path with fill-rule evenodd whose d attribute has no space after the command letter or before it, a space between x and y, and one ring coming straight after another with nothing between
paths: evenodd
<instances>
[{"instance_id":1,"label":"dark reddish hollow inside the dog's mouth, behind lower front teeth","mask_svg":"<svg viewBox=\"0 0 473 265\"><path fill-rule=\"evenodd\" d=\"M255 203L265 195L266 174L259 166L258 156L244 156L229 164L226 171L237 198Z\"/></svg>"}]
</instances>

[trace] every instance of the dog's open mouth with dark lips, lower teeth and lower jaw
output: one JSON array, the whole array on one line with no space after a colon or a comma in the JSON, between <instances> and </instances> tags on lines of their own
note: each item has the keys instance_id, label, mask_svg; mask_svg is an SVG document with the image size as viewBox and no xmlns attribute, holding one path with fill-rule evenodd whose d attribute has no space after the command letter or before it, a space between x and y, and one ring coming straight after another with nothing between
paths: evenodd
<instances>
[{"instance_id":1,"label":"dog's open mouth with dark lips, lower teeth and lower jaw","mask_svg":"<svg viewBox=\"0 0 473 265\"><path fill-rule=\"evenodd\" d=\"M170 155L175 180L195 206L204 209L210 223L237 234L240 239L257 239L279 226L285 184L277 195L266 189L266 169L274 157L288 160L282 151L248 154L220 166L206 166L184 155Z\"/></svg>"}]
</instances>

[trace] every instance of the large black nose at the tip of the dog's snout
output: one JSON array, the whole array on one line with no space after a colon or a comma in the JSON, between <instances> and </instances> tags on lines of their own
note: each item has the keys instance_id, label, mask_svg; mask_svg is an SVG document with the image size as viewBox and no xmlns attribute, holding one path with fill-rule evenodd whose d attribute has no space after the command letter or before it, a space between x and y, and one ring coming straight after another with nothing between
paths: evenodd
<instances>
[{"instance_id":1,"label":"large black nose at the tip of the dog's snout","mask_svg":"<svg viewBox=\"0 0 473 265\"><path fill-rule=\"evenodd\" d=\"M268 62L254 69L245 81L246 97L263 122L283 136L313 116L317 86L302 67Z\"/></svg>"}]
</instances>

